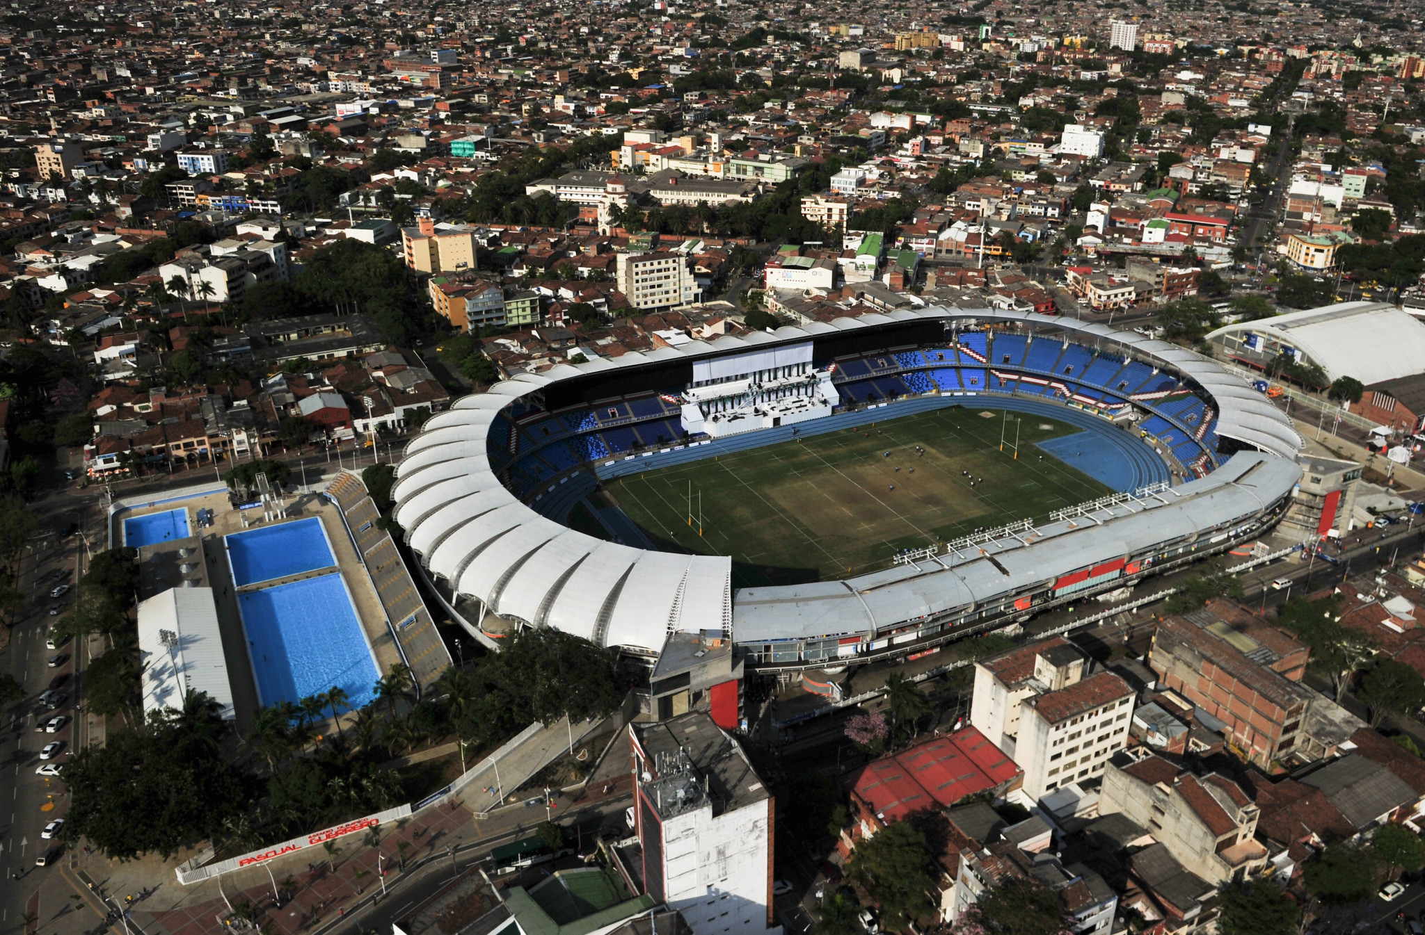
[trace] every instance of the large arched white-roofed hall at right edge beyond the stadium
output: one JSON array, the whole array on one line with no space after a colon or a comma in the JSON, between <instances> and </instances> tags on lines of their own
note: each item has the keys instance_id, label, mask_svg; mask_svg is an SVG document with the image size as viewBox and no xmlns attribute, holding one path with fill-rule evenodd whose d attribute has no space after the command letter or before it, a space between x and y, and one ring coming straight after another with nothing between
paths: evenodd
<instances>
[{"instance_id":1,"label":"large arched white-roofed hall at right edge beyond the stadium","mask_svg":"<svg viewBox=\"0 0 1425 935\"><path fill-rule=\"evenodd\" d=\"M1355 377L1367 386L1425 373L1425 323L1384 302L1342 302L1238 322L1207 340L1254 363L1288 354L1317 364L1330 380Z\"/></svg>"}]
</instances>

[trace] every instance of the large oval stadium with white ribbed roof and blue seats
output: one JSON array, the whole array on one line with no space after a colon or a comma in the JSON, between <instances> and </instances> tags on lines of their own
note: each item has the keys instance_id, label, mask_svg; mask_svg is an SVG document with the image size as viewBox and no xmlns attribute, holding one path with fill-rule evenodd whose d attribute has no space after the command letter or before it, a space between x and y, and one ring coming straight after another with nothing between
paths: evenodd
<instances>
[{"instance_id":1,"label":"large oval stadium with white ribbed roof and blue seats","mask_svg":"<svg viewBox=\"0 0 1425 935\"><path fill-rule=\"evenodd\" d=\"M522 374L409 443L395 515L489 646L754 670L925 650L1270 529L1302 441L1164 342L931 307Z\"/></svg>"}]
</instances>

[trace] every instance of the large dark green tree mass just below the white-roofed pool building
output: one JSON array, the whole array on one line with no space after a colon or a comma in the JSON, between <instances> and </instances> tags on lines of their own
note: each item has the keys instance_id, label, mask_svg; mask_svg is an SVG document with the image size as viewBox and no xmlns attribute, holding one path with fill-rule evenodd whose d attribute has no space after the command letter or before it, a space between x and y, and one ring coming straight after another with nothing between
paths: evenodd
<instances>
[{"instance_id":1,"label":"large dark green tree mass just below the white-roofed pool building","mask_svg":"<svg viewBox=\"0 0 1425 935\"><path fill-rule=\"evenodd\" d=\"M77 753L63 771L70 793L64 837L87 838L110 858L157 852L168 860L245 811L248 776L212 743L228 726L205 700L191 692L185 709L198 702L191 717L151 712L141 726Z\"/></svg>"}]
</instances>

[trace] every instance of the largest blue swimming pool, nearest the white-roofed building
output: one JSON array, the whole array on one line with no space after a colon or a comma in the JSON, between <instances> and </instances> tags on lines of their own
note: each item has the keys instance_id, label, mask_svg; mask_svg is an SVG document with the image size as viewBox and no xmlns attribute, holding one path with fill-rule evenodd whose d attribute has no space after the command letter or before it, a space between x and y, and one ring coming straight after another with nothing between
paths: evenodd
<instances>
[{"instance_id":1,"label":"largest blue swimming pool, nearest the white-roofed building","mask_svg":"<svg viewBox=\"0 0 1425 935\"><path fill-rule=\"evenodd\" d=\"M238 603L264 706L333 686L352 707L376 696L376 660L339 574L251 591Z\"/></svg>"}]
</instances>

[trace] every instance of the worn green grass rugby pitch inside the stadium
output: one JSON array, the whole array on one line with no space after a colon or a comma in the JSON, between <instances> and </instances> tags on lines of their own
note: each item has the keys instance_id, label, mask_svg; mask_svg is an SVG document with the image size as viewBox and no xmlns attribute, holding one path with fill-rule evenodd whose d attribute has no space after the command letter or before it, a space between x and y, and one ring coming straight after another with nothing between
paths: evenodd
<instances>
[{"instance_id":1,"label":"worn green grass rugby pitch inside the stadium","mask_svg":"<svg viewBox=\"0 0 1425 935\"><path fill-rule=\"evenodd\" d=\"M999 451L1003 410L970 404L628 475L604 491L660 548L731 555L735 586L845 578L903 548L1112 492L1033 447L1079 428L1010 417L1020 418L1019 461Z\"/></svg>"}]
</instances>

